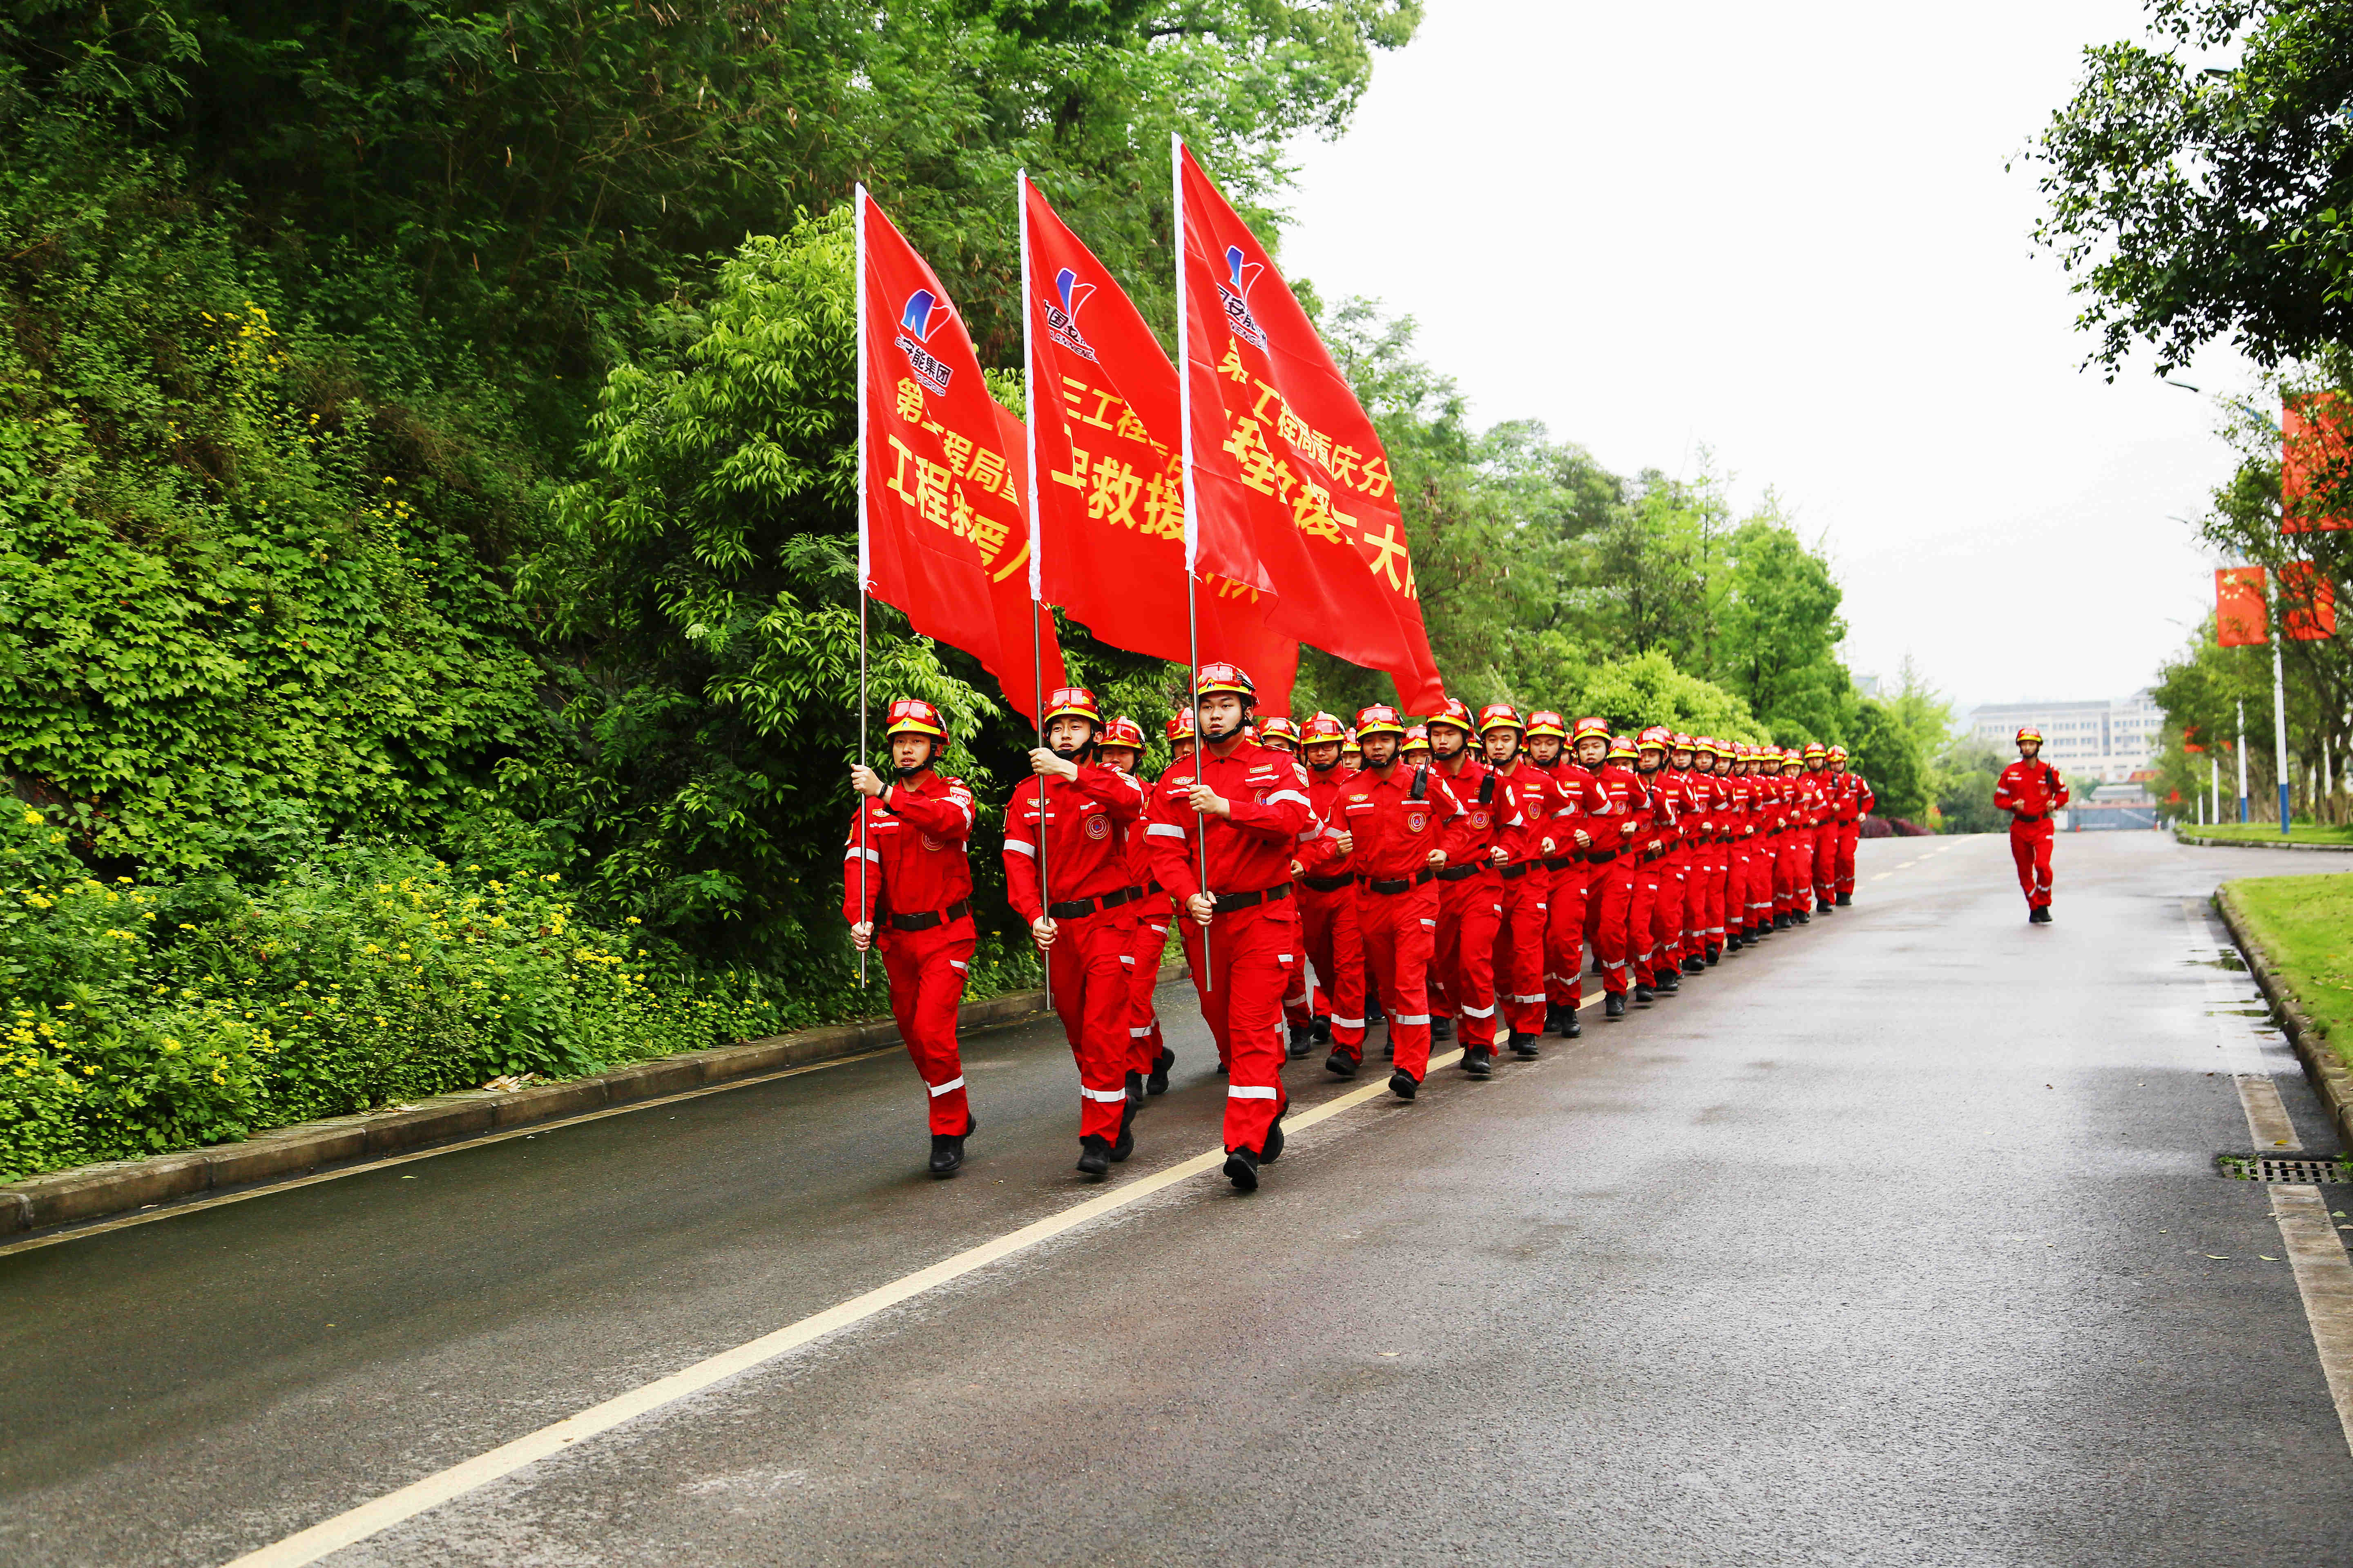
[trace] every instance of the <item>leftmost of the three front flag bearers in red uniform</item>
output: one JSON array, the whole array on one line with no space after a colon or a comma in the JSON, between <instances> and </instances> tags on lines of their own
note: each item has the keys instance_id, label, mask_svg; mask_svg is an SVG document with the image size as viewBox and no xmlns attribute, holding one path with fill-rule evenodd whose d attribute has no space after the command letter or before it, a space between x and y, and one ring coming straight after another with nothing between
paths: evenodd
<instances>
[{"instance_id":1,"label":"leftmost of the three front flag bearers in red uniform","mask_svg":"<svg viewBox=\"0 0 2353 1568\"><path fill-rule=\"evenodd\" d=\"M972 790L941 778L948 719L920 698L889 705L882 738L892 778L859 762L849 788L859 811L842 853L842 919L859 952L882 950L889 1011L899 1039L932 1095L932 1175L965 1164L976 1126L965 1100L965 1063L955 1048L955 1006L972 969Z\"/></svg>"}]
</instances>

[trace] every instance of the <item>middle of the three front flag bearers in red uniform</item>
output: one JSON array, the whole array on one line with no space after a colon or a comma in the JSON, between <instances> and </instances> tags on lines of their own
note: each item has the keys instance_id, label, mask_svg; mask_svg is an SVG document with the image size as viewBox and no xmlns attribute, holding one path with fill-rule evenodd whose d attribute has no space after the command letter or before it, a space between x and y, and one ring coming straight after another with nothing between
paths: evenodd
<instances>
[{"instance_id":1,"label":"middle of the three front flag bearers in red uniform","mask_svg":"<svg viewBox=\"0 0 2353 1568\"><path fill-rule=\"evenodd\" d=\"M1136 886L1127 827L1144 785L1096 757L1104 712L1085 686L1045 705L1033 778L1005 806L1005 900L1028 922L1045 987L1078 1060L1078 1171L1104 1175L1134 1147L1141 1098L1127 1095Z\"/></svg>"}]
</instances>

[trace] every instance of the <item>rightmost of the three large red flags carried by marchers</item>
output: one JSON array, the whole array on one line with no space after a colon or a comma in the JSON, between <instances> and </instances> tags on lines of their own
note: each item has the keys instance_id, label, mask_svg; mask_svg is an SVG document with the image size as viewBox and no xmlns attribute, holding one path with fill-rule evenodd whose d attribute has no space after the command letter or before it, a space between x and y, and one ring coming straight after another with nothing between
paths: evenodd
<instances>
[{"instance_id":1,"label":"rightmost of the three large red flags carried by marchers","mask_svg":"<svg viewBox=\"0 0 2353 1568\"><path fill-rule=\"evenodd\" d=\"M1176 336L1191 548L1273 595L1266 621L1445 705L1388 454L1266 247L1181 139Z\"/></svg>"}]
</instances>

